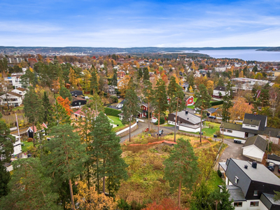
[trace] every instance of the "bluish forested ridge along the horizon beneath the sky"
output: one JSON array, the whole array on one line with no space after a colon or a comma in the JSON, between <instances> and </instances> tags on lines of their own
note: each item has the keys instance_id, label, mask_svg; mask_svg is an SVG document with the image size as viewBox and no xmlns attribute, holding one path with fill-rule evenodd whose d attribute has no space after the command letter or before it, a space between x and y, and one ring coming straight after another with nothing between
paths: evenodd
<instances>
[{"instance_id":1,"label":"bluish forested ridge along the horizon beneath the sky","mask_svg":"<svg viewBox=\"0 0 280 210\"><path fill-rule=\"evenodd\" d=\"M50 48L50 47L13 47L0 46L0 53L4 54L45 54L45 55L63 55L64 53L77 53L83 55L94 54L114 54L114 53L156 53L156 52L181 52L185 50L248 50L248 49L263 49L267 47L224 47L224 48L87 48L87 47L65 47L65 48Z\"/></svg>"}]
</instances>

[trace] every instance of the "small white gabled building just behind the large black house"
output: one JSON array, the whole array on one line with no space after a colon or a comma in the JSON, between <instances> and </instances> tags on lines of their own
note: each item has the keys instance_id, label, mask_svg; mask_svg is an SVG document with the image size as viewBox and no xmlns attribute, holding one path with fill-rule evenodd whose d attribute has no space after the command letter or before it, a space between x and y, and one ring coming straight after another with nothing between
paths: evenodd
<instances>
[{"instance_id":1,"label":"small white gabled building just behind the large black house","mask_svg":"<svg viewBox=\"0 0 280 210\"><path fill-rule=\"evenodd\" d=\"M244 156L262 162L263 155L265 155L265 150L267 149L267 140L260 137L260 135L249 137L242 149Z\"/></svg>"}]
</instances>

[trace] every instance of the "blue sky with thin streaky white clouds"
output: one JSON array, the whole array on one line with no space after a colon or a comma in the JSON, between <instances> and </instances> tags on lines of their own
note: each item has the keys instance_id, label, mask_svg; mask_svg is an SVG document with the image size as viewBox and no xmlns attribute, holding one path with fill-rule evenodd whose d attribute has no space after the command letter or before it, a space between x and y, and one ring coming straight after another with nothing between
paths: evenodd
<instances>
[{"instance_id":1,"label":"blue sky with thin streaky white clouds","mask_svg":"<svg viewBox=\"0 0 280 210\"><path fill-rule=\"evenodd\" d=\"M280 0L1 0L0 45L280 46Z\"/></svg>"}]
</instances>

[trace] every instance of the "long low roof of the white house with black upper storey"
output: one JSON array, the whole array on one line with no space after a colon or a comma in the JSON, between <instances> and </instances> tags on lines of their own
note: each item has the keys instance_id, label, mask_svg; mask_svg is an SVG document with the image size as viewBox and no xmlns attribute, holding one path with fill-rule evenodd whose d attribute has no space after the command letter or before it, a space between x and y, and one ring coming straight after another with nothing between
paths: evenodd
<instances>
[{"instance_id":1,"label":"long low roof of the white house with black upper storey","mask_svg":"<svg viewBox=\"0 0 280 210\"><path fill-rule=\"evenodd\" d=\"M262 123L260 123L262 124ZM274 128L274 127L265 127L264 130L253 130L242 127L240 124L234 124L234 123L222 123L220 128L222 128L224 125L224 129L230 129L230 130L237 130L241 132L248 132L251 134L260 134L260 135L267 135L270 137L278 137L280 129Z\"/></svg>"}]
</instances>

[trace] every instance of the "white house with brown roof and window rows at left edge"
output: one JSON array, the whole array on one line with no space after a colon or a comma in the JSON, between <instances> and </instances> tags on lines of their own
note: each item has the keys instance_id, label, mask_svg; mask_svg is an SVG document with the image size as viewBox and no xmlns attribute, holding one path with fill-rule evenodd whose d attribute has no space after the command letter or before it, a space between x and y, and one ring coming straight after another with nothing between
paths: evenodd
<instances>
[{"instance_id":1,"label":"white house with brown roof and window rows at left edge","mask_svg":"<svg viewBox=\"0 0 280 210\"><path fill-rule=\"evenodd\" d=\"M7 103L12 106L20 106L25 98L26 90L22 87L18 87L15 90L2 94L0 96L0 104L6 105Z\"/></svg>"}]
</instances>

